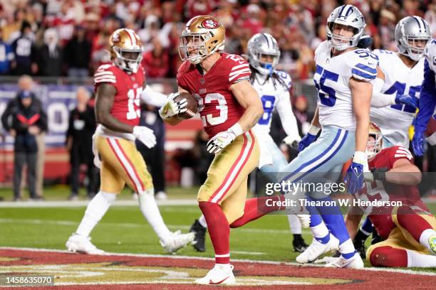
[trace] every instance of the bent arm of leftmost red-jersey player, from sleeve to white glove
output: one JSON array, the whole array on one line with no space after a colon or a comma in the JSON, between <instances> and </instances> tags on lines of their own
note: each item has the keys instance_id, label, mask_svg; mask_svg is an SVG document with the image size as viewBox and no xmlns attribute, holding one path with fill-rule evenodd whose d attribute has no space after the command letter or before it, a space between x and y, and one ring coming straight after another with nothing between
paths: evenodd
<instances>
[{"instance_id":1,"label":"bent arm of leftmost red-jersey player, from sleeve to white glove","mask_svg":"<svg viewBox=\"0 0 436 290\"><path fill-rule=\"evenodd\" d=\"M117 89L113 85L108 83L98 85L97 93L95 94L95 119L110 130L133 133L133 126L118 121L118 119L110 114L116 93Z\"/></svg>"}]
</instances>

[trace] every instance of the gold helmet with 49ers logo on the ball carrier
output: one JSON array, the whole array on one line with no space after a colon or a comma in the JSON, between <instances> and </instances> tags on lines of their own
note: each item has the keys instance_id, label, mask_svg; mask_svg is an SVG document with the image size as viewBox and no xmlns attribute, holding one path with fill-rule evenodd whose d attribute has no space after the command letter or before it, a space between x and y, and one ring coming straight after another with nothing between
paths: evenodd
<instances>
[{"instance_id":1,"label":"gold helmet with 49ers logo on the ball carrier","mask_svg":"<svg viewBox=\"0 0 436 290\"><path fill-rule=\"evenodd\" d=\"M226 29L209 15L195 16L186 23L180 36L179 54L183 61L196 65L212 53L224 50Z\"/></svg>"}]
</instances>

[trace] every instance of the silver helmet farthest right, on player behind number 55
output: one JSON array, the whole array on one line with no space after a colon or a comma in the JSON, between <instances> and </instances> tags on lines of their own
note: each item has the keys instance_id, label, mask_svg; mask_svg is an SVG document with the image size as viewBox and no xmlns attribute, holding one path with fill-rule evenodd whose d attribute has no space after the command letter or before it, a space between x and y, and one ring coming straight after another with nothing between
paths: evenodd
<instances>
[{"instance_id":1,"label":"silver helmet farthest right, on player behind number 55","mask_svg":"<svg viewBox=\"0 0 436 290\"><path fill-rule=\"evenodd\" d=\"M407 16L395 26L395 42L401 54L418 61L424 53L425 45L432 39L432 32L427 21L420 16ZM425 41L425 45L417 46L417 41Z\"/></svg>"}]
</instances>

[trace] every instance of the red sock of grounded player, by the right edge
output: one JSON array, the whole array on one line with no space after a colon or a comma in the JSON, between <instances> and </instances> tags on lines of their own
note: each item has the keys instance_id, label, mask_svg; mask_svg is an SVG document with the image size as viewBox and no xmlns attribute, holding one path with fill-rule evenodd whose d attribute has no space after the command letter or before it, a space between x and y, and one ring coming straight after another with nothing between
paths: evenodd
<instances>
[{"instance_id":1,"label":"red sock of grounded player, by the right edge","mask_svg":"<svg viewBox=\"0 0 436 290\"><path fill-rule=\"evenodd\" d=\"M412 235L417 242L420 242L422 232L433 229L432 225L430 225L427 220L409 207L403 206L398 209L397 220L402 227L410 232L410 235Z\"/></svg>"}]
</instances>

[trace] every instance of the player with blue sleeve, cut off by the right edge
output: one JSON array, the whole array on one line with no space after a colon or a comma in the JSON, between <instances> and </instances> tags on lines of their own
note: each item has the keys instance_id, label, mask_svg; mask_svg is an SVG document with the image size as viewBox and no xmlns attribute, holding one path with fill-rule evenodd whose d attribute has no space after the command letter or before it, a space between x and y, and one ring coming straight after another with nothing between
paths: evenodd
<instances>
[{"instance_id":1,"label":"player with blue sleeve, cut off by the right edge","mask_svg":"<svg viewBox=\"0 0 436 290\"><path fill-rule=\"evenodd\" d=\"M420 111L415 122L415 134L412 140L412 149L415 155L422 156L425 152L425 136L427 123L430 117L436 119L436 39L425 47L424 81L420 95ZM435 145L436 132L427 138L430 144Z\"/></svg>"}]
</instances>

